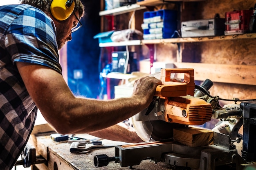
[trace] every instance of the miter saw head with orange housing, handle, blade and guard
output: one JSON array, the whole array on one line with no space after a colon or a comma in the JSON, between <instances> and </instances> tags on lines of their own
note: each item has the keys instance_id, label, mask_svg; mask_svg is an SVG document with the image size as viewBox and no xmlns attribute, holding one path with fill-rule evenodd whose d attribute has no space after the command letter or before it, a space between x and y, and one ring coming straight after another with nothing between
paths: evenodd
<instances>
[{"instance_id":1,"label":"miter saw head with orange housing, handle, blade and guard","mask_svg":"<svg viewBox=\"0 0 256 170\"><path fill-rule=\"evenodd\" d=\"M212 107L203 99L193 97L193 69L162 69L152 74L162 81L150 106L132 117L136 133L144 141L169 141L173 128L201 125L211 120Z\"/></svg>"}]
</instances>

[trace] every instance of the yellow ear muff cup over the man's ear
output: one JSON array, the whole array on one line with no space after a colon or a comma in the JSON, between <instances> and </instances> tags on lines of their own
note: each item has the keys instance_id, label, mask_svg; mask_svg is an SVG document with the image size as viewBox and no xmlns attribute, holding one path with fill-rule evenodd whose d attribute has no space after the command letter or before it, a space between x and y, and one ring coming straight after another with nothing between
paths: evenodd
<instances>
[{"instance_id":1,"label":"yellow ear muff cup over the man's ear","mask_svg":"<svg viewBox=\"0 0 256 170\"><path fill-rule=\"evenodd\" d=\"M75 8L74 0L53 0L51 4L51 13L56 20L66 20Z\"/></svg>"}]
</instances>

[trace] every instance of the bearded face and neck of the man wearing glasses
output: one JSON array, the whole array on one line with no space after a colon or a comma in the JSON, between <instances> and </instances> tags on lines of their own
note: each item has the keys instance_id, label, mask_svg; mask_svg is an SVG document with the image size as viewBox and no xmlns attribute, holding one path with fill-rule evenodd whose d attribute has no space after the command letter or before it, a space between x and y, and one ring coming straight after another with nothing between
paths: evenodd
<instances>
[{"instance_id":1,"label":"bearded face and neck of the man wearing glasses","mask_svg":"<svg viewBox=\"0 0 256 170\"><path fill-rule=\"evenodd\" d=\"M74 12L78 16L78 11ZM65 21L54 20L56 26L56 39L58 44L58 50L60 50L67 41L71 41L72 35L71 30L73 27L76 27L78 20L76 19L74 13Z\"/></svg>"}]
</instances>

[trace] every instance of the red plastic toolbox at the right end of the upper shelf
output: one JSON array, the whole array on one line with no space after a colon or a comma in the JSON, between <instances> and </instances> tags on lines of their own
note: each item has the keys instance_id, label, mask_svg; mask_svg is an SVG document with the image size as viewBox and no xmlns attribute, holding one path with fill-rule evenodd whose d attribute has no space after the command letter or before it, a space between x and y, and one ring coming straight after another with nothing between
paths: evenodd
<instances>
[{"instance_id":1,"label":"red plastic toolbox at the right end of the upper shelf","mask_svg":"<svg viewBox=\"0 0 256 170\"><path fill-rule=\"evenodd\" d=\"M252 15L253 10L226 12L225 35L248 33L250 17Z\"/></svg>"}]
</instances>

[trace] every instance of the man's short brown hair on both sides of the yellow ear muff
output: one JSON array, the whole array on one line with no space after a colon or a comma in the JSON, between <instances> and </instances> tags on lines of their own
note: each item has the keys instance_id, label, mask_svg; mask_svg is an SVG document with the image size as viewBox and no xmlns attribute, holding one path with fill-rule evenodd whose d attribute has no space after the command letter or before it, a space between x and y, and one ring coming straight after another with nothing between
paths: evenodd
<instances>
[{"instance_id":1,"label":"man's short brown hair on both sides of the yellow ear muff","mask_svg":"<svg viewBox=\"0 0 256 170\"><path fill-rule=\"evenodd\" d=\"M44 11L47 15L51 13L51 4L53 0L20 0L22 4L29 4L33 7L36 7L42 11ZM78 11L79 17L83 17L85 14L84 6L81 0L74 0L75 1L75 8L74 12Z\"/></svg>"}]
</instances>

